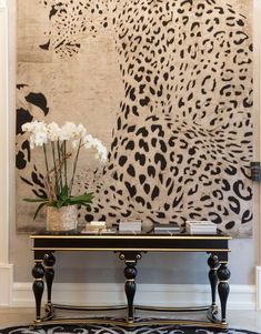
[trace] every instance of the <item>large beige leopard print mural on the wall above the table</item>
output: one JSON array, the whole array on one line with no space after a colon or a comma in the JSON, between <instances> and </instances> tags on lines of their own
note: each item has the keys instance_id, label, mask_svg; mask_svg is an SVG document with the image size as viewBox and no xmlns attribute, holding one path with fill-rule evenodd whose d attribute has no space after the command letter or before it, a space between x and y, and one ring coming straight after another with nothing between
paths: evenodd
<instances>
[{"instance_id":1,"label":"large beige leopard print mural on the wall above the table","mask_svg":"<svg viewBox=\"0 0 261 334\"><path fill-rule=\"evenodd\" d=\"M96 203L79 211L81 222L208 219L251 235L251 0L18 7L18 128L70 118L109 149L101 170L82 161L79 186ZM19 131L18 148L18 199L43 195L41 166ZM20 231L40 225L29 224L33 209L20 200L18 211Z\"/></svg>"}]
</instances>

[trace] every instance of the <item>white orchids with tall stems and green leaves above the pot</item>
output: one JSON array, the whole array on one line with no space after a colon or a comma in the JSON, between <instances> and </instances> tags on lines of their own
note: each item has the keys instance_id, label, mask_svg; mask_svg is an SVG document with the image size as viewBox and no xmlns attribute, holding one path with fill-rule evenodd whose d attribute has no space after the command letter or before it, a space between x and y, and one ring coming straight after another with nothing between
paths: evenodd
<instances>
[{"instance_id":1,"label":"white orchids with tall stems and green leaves above the pot","mask_svg":"<svg viewBox=\"0 0 261 334\"><path fill-rule=\"evenodd\" d=\"M30 148L42 146L47 175L44 178L46 199L24 199L27 202L40 203L34 213L33 220L43 206L54 206L57 209L66 205L90 206L93 193L72 195L73 182L82 148L94 149L96 158L101 162L107 160L106 146L87 132L82 124L76 125L67 122L59 126L56 122L46 124L44 122L32 121L22 125L22 131L29 133ZM69 149L69 142L70 148ZM69 161L71 178L69 178Z\"/></svg>"}]
</instances>

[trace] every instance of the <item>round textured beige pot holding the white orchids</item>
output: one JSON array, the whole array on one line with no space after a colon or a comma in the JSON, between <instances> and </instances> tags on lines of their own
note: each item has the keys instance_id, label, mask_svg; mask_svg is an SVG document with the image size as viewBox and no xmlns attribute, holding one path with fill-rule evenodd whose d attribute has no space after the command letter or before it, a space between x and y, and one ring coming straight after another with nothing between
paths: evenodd
<instances>
[{"instance_id":1,"label":"round textured beige pot holding the white orchids","mask_svg":"<svg viewBox=\"0 0 261 334\"><path fill-rule=\"evenodd\" d=\"M47 231L70 231L77 229L77 205L47 206Z\"/></svg>"}]
</instances>

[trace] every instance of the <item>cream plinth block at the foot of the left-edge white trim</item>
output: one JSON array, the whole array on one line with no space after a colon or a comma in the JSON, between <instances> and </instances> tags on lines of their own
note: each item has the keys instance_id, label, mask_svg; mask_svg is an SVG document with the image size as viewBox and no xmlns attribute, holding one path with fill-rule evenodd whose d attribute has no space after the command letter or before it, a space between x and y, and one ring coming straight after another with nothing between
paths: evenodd
<instances>
[{"instance_id":1,"label":"cream plinth block at the foot of the left-edge white trim","mask_svg":"<svg viewBox=\"0 0 261 334\"><path fill-rule=\"evenodd\" d=\"M13 266L0 263L0 306L10 306L13 291Z\"/></svg>"}]
</instances>

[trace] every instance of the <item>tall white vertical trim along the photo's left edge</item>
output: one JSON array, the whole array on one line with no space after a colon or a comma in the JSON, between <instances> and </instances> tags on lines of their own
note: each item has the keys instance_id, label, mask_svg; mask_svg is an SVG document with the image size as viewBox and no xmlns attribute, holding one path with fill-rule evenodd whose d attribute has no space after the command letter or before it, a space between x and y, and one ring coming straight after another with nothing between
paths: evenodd
<instances>
[{"instance_id":1,"label":"tall white vertical trim along the photo's left edge","mask_svg":"<svg viewBox=\"0 0 261 334\"><path fill-rule=\"evenodd\" d=\"M6 1L0 1L0 295L3 305L11 298L12 265L9 263L9 97L8 20Z\"/></svg>"}]
</instances>

